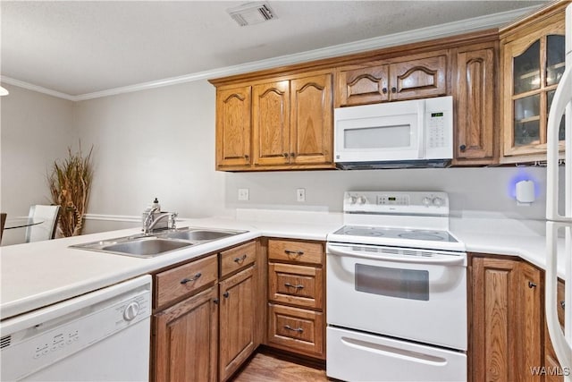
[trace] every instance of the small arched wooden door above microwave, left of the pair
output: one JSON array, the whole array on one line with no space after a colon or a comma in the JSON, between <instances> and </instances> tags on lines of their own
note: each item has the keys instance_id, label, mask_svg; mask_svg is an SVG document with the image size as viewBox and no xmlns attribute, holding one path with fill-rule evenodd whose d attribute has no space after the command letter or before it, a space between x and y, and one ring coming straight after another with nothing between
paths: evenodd
<instances>
[{"instance_id":1,"label":"small arched wooden door above microwave, left of the pair","mask_svg":"<svg viewBox=\"0 0 572 382\"><path fill-rule=\"evenodd\" d=\"M339 106L376 104L389 100L389 66L342 68L338 72Z\"/></svg>"}]
</instances>

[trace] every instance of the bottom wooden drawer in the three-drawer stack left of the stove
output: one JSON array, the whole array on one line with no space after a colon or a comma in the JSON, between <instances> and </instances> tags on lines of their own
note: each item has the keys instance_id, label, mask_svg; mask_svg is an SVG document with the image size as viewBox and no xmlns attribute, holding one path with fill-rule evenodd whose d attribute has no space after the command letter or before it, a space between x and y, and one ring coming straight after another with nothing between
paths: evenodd
<instances>
[{"instance_id":1,"label":"bottom wooden drawer in the three-drawer stack left of the stove","mask_svg":"<svg viewBox=\"0 0 572 382\"><path fill-rule=\"evenodd\" d=\"M324 358L324 314L269 304L268 344Z\"/></svg>"}]
</instances>

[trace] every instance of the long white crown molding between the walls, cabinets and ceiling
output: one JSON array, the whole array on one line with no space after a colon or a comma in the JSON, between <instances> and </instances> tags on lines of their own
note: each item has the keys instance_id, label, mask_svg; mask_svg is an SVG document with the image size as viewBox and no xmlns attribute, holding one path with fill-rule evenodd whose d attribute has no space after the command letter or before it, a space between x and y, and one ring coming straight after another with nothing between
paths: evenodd
<instances>
[{"instance_id":1,"label":"long white crown molding between the walls, cabinets and ceiling","mask_svg":"<svg viewBox=\"0 0 572 382\"><path fill-rule=\"evenodd\" d=\"M290 64L306 63L309 61L319 60L323 58L331 58L340 55L361 53L361 52L366 52L368 50L380 49L384 47L395 47L402 44L420 42L427 39L445 38L453 36L455 34L469 33L477 30L499 28L507 23L517 20L519 17L522 17L526 13L534 12L537 9L538 9L537 6L531 6L514 11L495 13L486 16L479 16L467 20L448 22L445 24L420 28L417 30L408 30L405 32L394 33L387 36L366 38L355 42L335 45L332 47L324 47L320 49L309 50L306 52L301 52L293 55L281 55L278 57L255 61L247 64L227 66L204 72L195 72L159 81L142 82L135 85L124 86L121 88L106 89L93 93L80 94L78 96L72 96L52 89L46 89L37 85L30 84L28 82L15 80L5 76L2 76L1 78L3 82L9 83L14 86L19 86L24 89L30 89L38 91L40 93L48 94L50 96L77 102L94 98L115 96L134 91L162 88L164 86L177 85L185 82L209 80L213 78L227 77L245 72L256 72L259 70L272 69L275 67L280 67Z\"/></svg>"}]
</instances>

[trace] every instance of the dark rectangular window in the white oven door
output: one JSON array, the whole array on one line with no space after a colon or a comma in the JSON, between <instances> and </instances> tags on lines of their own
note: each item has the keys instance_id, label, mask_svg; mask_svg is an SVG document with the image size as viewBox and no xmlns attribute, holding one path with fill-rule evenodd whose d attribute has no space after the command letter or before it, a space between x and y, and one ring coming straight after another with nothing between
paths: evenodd
<instances>
[{"instance_id":1,"label":"dark rectangular window in the white oven door","mask_svg":"<svg viewBox=\"0 0 572 382\"><path fill-rule=\"evenodd\" d=\"M429 301L429 271L356 264L356 291Z\"/></svg>"}]
</instances>

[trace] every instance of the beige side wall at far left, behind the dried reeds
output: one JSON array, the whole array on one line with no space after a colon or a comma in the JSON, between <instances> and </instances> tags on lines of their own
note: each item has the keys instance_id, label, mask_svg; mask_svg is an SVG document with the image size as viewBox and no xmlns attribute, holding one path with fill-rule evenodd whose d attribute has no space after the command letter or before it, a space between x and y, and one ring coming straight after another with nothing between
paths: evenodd
<instances>
[{"instance_id":1,"label":"beige side wall at far left, behind the dried reeds","mask_svg":"<svg viewBox=\"0 0 572 382\"><path fill-rule=\"evenodd\" d=\"M1 206L8 216L27 216L31 204L49 204L46 174L67 148L78 147L73 102L3 84L1 103ZM23 229L4 233L3 244L21 241Z\"/></svg>"}]
</instances>

